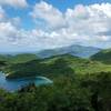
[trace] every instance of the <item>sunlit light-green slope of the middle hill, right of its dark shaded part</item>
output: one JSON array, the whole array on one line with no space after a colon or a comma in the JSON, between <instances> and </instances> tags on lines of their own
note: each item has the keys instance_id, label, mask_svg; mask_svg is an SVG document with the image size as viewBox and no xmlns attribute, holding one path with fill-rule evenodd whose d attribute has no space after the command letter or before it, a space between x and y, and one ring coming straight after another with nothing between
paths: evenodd
<instances>
[{"instance_id":1,"label":"sunlit light-green slope of the middle hill, right of its dark shaded part","mask_svg":"<svg viewBox=\"0 0 111 111\"><path fill-rule=\"evenodd\" d=\"M59 59L64 59L68 65L74 70L75 73L92 73L100 71L111 71L111 65L105 65L103 63L91 61L87 59L81 59L70 54L52 57L42 61L42 63L54 64ZM62 68L62 67L61 67Z\"/></svg>"}]
</instances>

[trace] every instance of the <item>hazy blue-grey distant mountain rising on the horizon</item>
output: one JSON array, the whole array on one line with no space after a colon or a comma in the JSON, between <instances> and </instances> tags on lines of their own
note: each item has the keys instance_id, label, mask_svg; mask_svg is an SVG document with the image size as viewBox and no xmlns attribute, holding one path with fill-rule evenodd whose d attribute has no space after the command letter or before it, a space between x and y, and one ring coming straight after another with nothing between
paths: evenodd
<instances>
[{"instance_id":1,"label":"hazy blue-grey distant mountain rising on the horizon","mask_svg":"<svg viewBox=\"0 0 111 111\"><path fill-rule=\"evenodd\" d=\"M70 46L70 47L63 47L63 48L57 48L57 49L49 49L43 50L37 53L38 57L41 58L49 58L52 56L59 56L59 54L71 54L77 56L81 58L89 58L95 53L98 53L101 49L93 48L93 47L83 47L83 46Z\"/></svg>"}]
</instances>

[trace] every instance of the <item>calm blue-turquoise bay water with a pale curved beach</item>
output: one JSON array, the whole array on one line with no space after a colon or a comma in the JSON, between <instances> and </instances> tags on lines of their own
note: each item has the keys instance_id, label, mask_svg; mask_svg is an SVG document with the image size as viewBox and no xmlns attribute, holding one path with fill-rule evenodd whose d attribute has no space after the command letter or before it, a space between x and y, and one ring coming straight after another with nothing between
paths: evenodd
<instances>
[{"instance_id":1,"label":"calm blue-turquoise bay water with a pale curved beach","mask_svg":"<svg viewBox=\"0 0 111 111\"><path fill-rule=\"evenodd\" d=\"M40 85L52 83L52 81L43 77L8 80L6 79L4 73L0 72L0 88L7 91L13 92L30 83L36 83L36 85Z\"/></svg>"}]
</instances>

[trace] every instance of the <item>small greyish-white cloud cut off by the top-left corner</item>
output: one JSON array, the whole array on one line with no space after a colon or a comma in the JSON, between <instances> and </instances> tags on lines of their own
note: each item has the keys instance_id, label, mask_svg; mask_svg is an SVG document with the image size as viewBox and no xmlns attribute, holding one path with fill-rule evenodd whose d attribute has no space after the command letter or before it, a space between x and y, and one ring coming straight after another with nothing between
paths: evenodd
<instances>
[{"instance_id":1,"label":"small greyish-white cloud cut off by the top-left corner","mask_svg":"<svg viewBox=\"0 0 111 111\"><path fill-rule=\"evenodd\" d=\"M11 7L20 7L24 8L28 6L27 0L0 0L0 4L2 6L11 6Z\"/></svg>"}]
</instances>

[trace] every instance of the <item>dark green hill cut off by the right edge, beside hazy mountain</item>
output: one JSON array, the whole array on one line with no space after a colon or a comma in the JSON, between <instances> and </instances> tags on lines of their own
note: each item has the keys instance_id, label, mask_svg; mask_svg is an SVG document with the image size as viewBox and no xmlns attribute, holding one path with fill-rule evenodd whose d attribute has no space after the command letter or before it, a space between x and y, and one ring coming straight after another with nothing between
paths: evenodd
<instances>
[{"instance_id":1,"label":"dark green hill cut off by the right edge, beside hazy mountain","mask_svg":"<svg viewBox=\"0 0 111 111\"><path fill-rule=\"evenodd\" d=\"M111 49L102 50L91 57L91 60L100 61L105 64L111 64Z\"/></svg>"}]
</instances>

